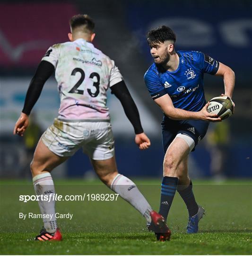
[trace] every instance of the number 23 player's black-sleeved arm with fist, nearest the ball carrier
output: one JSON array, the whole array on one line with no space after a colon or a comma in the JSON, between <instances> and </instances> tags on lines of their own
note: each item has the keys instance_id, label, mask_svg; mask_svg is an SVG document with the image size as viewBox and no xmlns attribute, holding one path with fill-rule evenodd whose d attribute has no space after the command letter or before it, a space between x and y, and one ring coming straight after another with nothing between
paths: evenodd
<instances>
[{"instance_id":1,"label":"number 23 player's black-sleeved arm with fist, nearest the ball carrier","mask_svg":"<svg viewBox=\"0 0 252 256\"><path fill-rule=\"evenodd\" d=\"M134 127L136 144L140 149L147 149L150 146L150 140L143 131L138 108L132 99L125 82L122 80L121 82L114 84L111 86L111 91L121 102L127 118Z\"/></svg>"}]
</instances>

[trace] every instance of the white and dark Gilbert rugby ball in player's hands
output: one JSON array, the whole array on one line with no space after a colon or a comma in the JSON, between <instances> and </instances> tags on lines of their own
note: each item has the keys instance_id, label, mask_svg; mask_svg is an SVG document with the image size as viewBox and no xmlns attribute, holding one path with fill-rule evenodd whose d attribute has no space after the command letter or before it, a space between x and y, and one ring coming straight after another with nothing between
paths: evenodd
<instances>
[{"instance_id":1,"label":"white and dark Gilbert rugby ball in player's hands","mask_svg":"<svg viewBox=\"0 0 252 256\"><path fill-rule=\"evenodd\" d=\"M231 99L227 96L219 96L209 101L208 112L216 114L222 120L233 114L234 106Z\"/></svg>"}]
</instances>

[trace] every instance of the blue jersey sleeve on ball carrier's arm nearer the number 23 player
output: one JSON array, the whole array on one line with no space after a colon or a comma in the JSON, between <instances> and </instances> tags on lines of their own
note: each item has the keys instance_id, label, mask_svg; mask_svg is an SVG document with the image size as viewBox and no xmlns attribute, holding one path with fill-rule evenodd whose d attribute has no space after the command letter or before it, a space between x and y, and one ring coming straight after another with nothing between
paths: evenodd
<instances>
[{"instance_id":1,"label":"blue jersey sleeve on ball carrier's arm nearer the number 23 player","mask_svg":"<svg viewBox=\"0 0 252 256\"><path fill-rule=\"evenodd\" d=\"M153 73L152 71L147 71L144 75L144 82L148 88L149 94L151 95L152 99L155 100L167 92L161 81L159 80L158 76Z\"/></svg>"}]
</instances>

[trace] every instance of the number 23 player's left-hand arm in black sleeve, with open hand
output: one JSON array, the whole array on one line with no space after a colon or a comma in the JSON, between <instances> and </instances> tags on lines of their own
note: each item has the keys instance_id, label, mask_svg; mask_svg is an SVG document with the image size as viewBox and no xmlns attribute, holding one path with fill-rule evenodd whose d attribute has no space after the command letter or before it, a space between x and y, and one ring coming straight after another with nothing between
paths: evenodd
<instances>
[{"instance_id":1,"label":"number 23 player's left-hand arm in black sleeve, with open hand","mask_svg":"<svg viewBox=\"0 0 252 256\"><path fill-rule=\"evenodd\" d=\"M17 134L19 136L23 136L26 128L29 125L29 114L41 94L44 83L52 75L53 72L54 66L48 61L43 60L38 65L37 71L32 78L29 88L26 92L24 108L14 127L14 135Z\"/></svg>"}]
</instances>

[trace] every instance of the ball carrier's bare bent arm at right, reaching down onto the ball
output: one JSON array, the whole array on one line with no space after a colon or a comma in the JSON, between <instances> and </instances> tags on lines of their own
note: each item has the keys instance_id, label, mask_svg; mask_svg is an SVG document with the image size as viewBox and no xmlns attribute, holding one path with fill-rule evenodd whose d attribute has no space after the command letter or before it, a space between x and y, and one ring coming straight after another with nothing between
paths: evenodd
<instances>
[{"instance_id":1,"label":"ball carrier's bare bent arm at right, reaching down onto the ball","mask_svg":"<svg viewBox=\"0 0 252 256\"><path fill-rule=\"evenodd\" d=\"M219 68L215 75L223 77L225 92L222 94L222 96L226 95L232 99L233 91L235 88L235 72L230 67L219 62ZM233 105L235 107L234 102Z\"/></svg>"}]
</instances>

